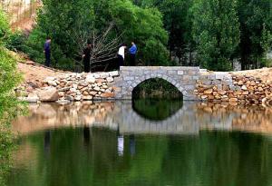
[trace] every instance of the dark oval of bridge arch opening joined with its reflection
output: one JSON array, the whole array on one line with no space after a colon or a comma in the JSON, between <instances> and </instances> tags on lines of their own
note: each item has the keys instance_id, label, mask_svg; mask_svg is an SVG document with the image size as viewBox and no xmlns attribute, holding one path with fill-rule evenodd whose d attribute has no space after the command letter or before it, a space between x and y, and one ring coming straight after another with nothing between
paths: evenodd
<instances>
[{"instance_id":1,"label":"dark oval of bridge arch opening joined with its reflection","mask_svg":"<svg viewBox=\"0 0 272 186\"><path fill-rule=\"evenodd\" d=\"M139 83L132 91L132 108L142 118L163 121L177 113L183 105L183 94L172 83L151 78Z\"/></svg>"}]
</instances>

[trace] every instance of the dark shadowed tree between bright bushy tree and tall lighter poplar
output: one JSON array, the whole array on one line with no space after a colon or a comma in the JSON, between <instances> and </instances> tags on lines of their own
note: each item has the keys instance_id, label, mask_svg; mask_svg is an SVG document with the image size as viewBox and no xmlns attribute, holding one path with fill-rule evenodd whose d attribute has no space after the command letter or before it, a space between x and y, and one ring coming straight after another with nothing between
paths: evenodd
<instances>
[{"instance_id":1,"label":"dark shadowed tree between bright bushy tree and tall lighter poplar","mask_svg":"<svg viewBox=\"0 0 272 186\"><path fill-rule=\"evenodd\" d=\"M178 57L179 64L192 64L193 40L190 7L192 0L134 0L134 4L158 7L163 15L164 28L169 32L170 58ZM189 57L186 57L189 54Z\"/></svg>"}]
</instances>

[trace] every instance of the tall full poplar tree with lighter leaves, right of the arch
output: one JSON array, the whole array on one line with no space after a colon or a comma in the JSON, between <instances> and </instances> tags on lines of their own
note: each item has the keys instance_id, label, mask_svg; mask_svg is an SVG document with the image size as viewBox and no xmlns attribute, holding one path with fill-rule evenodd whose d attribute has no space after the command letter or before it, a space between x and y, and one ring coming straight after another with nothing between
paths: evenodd
<instances>
[{"instance_id":1,"label":"tall full poplar tree with lighter leaves, right of the arch","mask_svg":"<svg viewBox=\"0 0 272 186\"><path fill-rule=\"evenodd\" d=\"M228 71L239 44L236 0L197 0L193 5L193 36L200 66Z\"/></svg>"}]
</instances>

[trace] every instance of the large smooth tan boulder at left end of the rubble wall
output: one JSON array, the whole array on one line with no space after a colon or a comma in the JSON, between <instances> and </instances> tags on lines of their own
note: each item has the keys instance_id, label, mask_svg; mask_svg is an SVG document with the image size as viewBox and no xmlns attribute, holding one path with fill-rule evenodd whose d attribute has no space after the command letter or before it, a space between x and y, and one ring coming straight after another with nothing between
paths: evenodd
<instances>
[{"instance_id":1,"label":"large smooth tan boulder at left end of the rubble wall","mask_svg":"<svg viewBox=\"0 0 272 186\"><path fill-rule=\"evenodd\" d=\"M59 93L55 87L44 87L37 90L41 102L55 102L59 99Z\"/></svg>"}]
</instances>

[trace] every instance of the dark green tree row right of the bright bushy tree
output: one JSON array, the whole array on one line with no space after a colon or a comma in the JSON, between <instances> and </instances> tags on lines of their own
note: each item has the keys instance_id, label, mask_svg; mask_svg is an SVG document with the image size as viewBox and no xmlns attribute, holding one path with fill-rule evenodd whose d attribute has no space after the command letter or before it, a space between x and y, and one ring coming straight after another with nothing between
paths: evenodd
<instances>
[{"instance_id":1,"label":"dark green tree row right of the bright bushy tree","mask_svg":"<svg viewBox=\"0 0 272 186\"><path fill-rule=\"evenodd\" d=\"M243 69L272 65L266 57L272 45L271 0L133 2L160 9L170 33L169 50L183 64L213 70L229 70L233 59L238 59Z\"/></svg>"}]
</instances>

